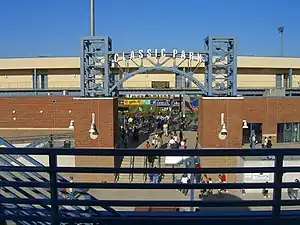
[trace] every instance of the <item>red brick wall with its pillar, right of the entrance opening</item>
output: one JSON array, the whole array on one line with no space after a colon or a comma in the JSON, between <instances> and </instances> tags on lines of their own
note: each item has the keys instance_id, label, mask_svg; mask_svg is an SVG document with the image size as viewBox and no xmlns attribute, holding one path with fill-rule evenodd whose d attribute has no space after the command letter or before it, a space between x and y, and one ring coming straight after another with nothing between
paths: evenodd
<instances>
[{"instance_id":1,"label":"red brick wall with its pillar, right of the entrance opening","mask_svg":"<svg viewBox=\"0 0 300 225\"><path fill-rule=\"evenodd\" d=\"M242 121L262 123L263 135L276 136L278 122L300 122L300 98L246 97L200 98L199 142L203 148L241 148ZM227 138L220 140L221 113L224 113ZM274 138L274 141L276 138ZM226 150L224 150L226 151ZM236 157L204 157L202 167L235 167ZM216 179L216 175L213 176ZM234 181L235 175L228 175Z\"/></svg>"}]
</instances>

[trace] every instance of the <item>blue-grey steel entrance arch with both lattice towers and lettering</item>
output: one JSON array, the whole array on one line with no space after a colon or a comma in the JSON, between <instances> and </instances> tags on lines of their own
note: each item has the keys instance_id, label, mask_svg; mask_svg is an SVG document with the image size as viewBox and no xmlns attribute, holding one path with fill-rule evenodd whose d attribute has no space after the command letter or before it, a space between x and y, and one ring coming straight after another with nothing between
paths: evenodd
<instances>
[{"instance_id":1,"label":"blue-grey steel entrance arch with both lattice towers and lettering","mask_svg":"<svg viewBox=\"0 0 300 225\"><path fill-rule=\"evenodd\" d=\"M207 37L204 52L168 53L165 49L151 52L113 52L110 37L87 37L81 42L81 96L118 96L124 93L123 83L131 77L150 71L167 71L195 84L193 94L204 96L237 95L237 59L235 39ZM132 67L137 68L132 71ZM204 68L204 83L195 78L199 67ZM133 89L126 89L134 91ZM189 94L183 87L177 94ZM159 90L146 90L160 94ZM169 90L167 90L169 91ZM157 92L157 93L156 93Z\"/></svg>"}]
</instances>

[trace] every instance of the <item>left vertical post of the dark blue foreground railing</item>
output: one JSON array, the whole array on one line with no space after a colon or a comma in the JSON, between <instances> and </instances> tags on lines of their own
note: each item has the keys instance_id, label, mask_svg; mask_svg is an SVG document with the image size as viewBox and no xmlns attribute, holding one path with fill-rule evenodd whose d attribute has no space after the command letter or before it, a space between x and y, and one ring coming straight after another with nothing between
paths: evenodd
<instances>
[{"instance_id":1,"label":"left vertical post of the dark blue foreground railing","mask_svg":"<svg viewBox=\"0 0 300 225\"><path fill-rule=\"evenodd\" d=\"M50 193L51 193L51 210L52 221L51 224L59 224L59 206L58 206L58 190L57 190L57 156L54 151L49 153L49 166L50 166Z\"/></svg>"}]
</instances>

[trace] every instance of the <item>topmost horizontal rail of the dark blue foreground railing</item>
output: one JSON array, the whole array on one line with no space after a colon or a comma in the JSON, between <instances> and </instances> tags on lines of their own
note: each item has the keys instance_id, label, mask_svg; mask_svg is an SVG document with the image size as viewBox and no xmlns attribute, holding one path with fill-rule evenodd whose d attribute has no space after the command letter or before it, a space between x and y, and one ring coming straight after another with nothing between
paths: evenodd
<instances>
[{"instance_id":1,"label":"topmost horizontal rail of the dark blue foreground railing","mask_svg":"<svg viewBox=\"0 0 300 225\"><path fill-rule=\"evenodd\" d=\"M101 148L0 148L0 154L30 154L30 155L91 155L91 156L300 156L300 148L273 148L273 149L185 149L184 151L174 149L111 149Z\"/></svg>"}]
</instances>

